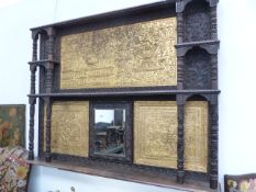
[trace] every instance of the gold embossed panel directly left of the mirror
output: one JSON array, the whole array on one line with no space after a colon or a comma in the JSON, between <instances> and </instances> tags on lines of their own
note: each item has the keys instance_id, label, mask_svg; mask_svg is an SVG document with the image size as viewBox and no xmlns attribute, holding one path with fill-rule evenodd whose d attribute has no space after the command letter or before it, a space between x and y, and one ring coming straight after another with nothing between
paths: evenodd
<instances>
[{"instance_id":1,"label":"gold embossed panel directly left of the mirror","mask_svg":"<svg viewBox=\"0 0 256 192\"><path fill-rule=\"evenodd\" d=\"M54 102L52 153L88 157L89 102Z\"/></svg>"}]
</instances>

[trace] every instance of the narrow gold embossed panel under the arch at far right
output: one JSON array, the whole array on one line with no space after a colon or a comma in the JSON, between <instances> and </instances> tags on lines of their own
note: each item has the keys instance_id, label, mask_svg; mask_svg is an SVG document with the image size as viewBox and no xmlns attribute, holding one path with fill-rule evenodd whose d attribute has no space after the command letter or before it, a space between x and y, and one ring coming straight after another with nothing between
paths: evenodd
<instances>
[{"instance_id":1,"label":"narrow gold embossed panel under the arch at far right","mask_svg":"<svg viewBox=\"0 0 256 192\"><path fill-rule=\"evenodd\" d=\"M208 171L208 102L189 101L185 106L185 169Z\"/></svg>"}]
</instances>

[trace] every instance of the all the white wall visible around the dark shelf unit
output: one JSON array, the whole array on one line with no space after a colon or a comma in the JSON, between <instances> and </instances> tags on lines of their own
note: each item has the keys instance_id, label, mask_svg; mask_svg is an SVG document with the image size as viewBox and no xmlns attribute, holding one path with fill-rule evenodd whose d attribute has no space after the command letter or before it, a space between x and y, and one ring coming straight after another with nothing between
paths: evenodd
<instances>
[{"instance_id":1,"label":"all the white wall visible around the dark shelf unit","mask_svg":"<svg viewBox=\"0 0 256 192\"><path fill-rule=\"evenodd\" d=\"M0 1L0 103L26 103L30 89L30 27L108 12L156 0L15 0ZM221 0L219 3L220 181L224 173L256 172L256 1ZM240 91L242 90L242 91ZM27 105L29 106L29 105ZM29 117L29 108L26 116ZM29 122L29 120L27 120ZM29 125L29 123L27 123ZM37 138L37 133L36 136ZM35 146L37 147L37 146ZM137 183L35 167L31 192L48 190L111 192L167 192Z\"/></svg>"}]
</instances>

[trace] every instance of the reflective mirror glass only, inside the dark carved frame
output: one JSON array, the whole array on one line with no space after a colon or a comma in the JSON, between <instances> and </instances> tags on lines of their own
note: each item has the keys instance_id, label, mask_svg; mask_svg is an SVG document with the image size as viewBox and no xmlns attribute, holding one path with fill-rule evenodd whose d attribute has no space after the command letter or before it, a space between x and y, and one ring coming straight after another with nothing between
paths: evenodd
<instances>
[{"instance_id":1,"label":"reflective mirror glass only, inside the dark carved frame","mask_svg":"<svg viewBox=\"0 0 256 192\"><path fill-rule=\"evenodd\" d=\"M94 109L94 153L124 156L124 109Z\"/></svg>"}]
</instances>

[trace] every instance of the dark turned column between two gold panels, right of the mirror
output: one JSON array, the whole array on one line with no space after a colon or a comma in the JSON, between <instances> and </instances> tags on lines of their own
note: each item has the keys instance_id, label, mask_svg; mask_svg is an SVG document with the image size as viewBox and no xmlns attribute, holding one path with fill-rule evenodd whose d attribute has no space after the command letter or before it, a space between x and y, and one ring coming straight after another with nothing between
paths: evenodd
<instances>
[{"instance_id":1,"label":"dark turned column between two gold panels, right of the mirror","mask_svg":"<svg viewBox=\"0 0 256 192\"><path fill-rule=\"evenodd\" d=\"M183 170L185 99L183 99L183 95L177 95L177 108L178 108L177 182L182 184L183 178L185 178L185 170Z\"/></svg>"}]
</instances>

